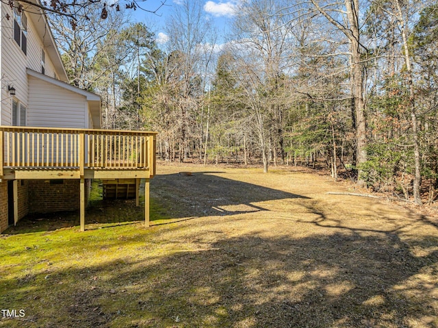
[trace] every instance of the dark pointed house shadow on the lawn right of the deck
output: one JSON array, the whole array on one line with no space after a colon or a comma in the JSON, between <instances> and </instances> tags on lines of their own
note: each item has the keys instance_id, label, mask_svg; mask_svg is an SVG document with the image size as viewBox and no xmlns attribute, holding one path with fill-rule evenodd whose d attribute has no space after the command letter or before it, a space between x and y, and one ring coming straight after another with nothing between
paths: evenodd
<instances>
[{"instance_id":1,"label":"dark pointed house shadow on the lawn right of the deck","mask_svg":"<svg viewBox=\"0 0 438 328\"><path fill-rule=\"evenodd\" d=\"M257 203L280 199L309 199L273 188L227 179L220 172L157 175L151 180L151 198L170 218L229 216L266 210Z\"/></svg>"}]
</instances>

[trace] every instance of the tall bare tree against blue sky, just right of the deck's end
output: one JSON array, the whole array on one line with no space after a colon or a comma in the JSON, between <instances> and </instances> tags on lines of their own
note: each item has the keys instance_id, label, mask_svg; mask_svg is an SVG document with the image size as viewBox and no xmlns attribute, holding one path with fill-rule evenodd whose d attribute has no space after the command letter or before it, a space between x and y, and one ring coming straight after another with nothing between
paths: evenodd
<instances>
[{"instance_id":1,"label":"tall bare tree against blue sky, just right of the deck's end","mask_svg":"<svg viewBox=\"0 0 438 328\"><path fill-rule=\"evenodd\" d=\"M201 1L181 1L175 5L172 15L166 22L169 36L169 73L173 80L176 108L175 124L178 125L180 138L180 160L187 160L189 142L192 136L202 135L196 130L196 112L201 107L199 99L203 96L203 65L206 62L205 51L212 51L209 36L211 26L205 19ZM201 136L197 136L201 139Z\"/></svg>"}]
</instances>

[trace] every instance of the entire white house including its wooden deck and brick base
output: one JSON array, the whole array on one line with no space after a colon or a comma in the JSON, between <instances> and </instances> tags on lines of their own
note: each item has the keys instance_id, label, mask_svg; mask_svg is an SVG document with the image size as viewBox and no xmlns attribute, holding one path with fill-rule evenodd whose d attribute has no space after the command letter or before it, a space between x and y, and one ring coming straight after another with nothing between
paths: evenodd
<instances>
[{"instance_id":1,"label":"entire white house including its wooden deck and brick base","mask_svg":"<svg viewBox=\"0 0 438 328\"><path fill-rule=\"evenodd\" d=\"M104 136L101 98L66 83L46 17L23 8L0 5L0 232L29 212L79 205L83 229L86 179L146 177L149 186L155 134ZM129 153L136 153L135 163Z\"/></svg>"}]
</instances>

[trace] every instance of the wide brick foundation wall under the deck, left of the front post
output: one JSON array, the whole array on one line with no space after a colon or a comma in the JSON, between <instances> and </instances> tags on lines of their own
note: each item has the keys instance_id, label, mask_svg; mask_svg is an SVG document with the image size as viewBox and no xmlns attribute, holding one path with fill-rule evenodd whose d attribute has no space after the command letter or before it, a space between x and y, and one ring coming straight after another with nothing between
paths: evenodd
<instances>
[{"instance_id":1,"label":"wide brick foundation wall under the deck, left of the front post","mask_svg":"<svg viewBox=\"0 0 438 328\"><path fill-rule=\"evenodd\" d=\"M29 180L29 213L79 209L79 179Z\"/></svg>"}]
</instances>

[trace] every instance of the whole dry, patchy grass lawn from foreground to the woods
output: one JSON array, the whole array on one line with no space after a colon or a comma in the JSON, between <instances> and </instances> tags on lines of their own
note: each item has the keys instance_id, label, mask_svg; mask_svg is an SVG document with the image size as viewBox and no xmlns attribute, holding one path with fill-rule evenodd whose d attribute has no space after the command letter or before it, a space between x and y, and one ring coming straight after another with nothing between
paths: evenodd
<instances>
[{"instance_id":1,"label":"whole dry, patchy grass lawn from foreground to the woods","mask_svg":"<svg viewBox=\"0 0 438 328\"><path fill-rule=\"evenodd\" d=\"M179 172L190 171L191 176ZM0 327L438 327L438 220L278 169L159 166L129 202L0 238Z\"/></svg>"}]
</instances>

